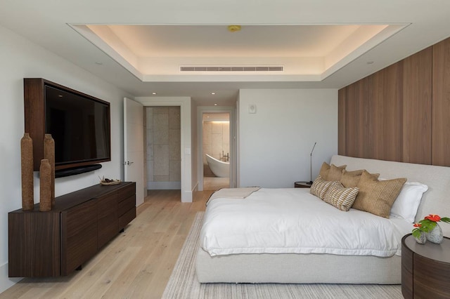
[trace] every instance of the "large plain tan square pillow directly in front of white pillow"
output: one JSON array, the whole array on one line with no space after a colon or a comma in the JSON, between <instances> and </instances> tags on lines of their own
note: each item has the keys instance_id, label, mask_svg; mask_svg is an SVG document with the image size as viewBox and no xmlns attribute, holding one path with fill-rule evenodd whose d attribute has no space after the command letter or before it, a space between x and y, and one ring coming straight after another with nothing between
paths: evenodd
<instances>
[{"instance_id":1,"label":"large plain tan square pillow directly in front of white pillow","mask_svg":"<svg viewBox=\"0 0 450 299\"><path fill-rule=\"evenodd\" d=\"M405 182L406 178L377 180L363 171L357 185L359 193L352 208L389 218L392 204Z\"/></svg>"}]
</instances>

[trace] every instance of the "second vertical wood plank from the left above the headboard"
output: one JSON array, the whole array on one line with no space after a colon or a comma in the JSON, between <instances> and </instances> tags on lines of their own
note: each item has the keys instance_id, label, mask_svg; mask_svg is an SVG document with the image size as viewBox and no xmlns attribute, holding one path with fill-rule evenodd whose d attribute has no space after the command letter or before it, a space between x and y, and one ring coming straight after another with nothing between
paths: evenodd
<instances>
[{"instance_id":1,"label":"second vertical wood plank from the left above the headboard","mask_svg":"<svg viewBox=\"0 0 450 299\"><path fill-rule=\"evenodd\" d=\"M347 86L346 99L346 155L368 158L368 79Z\"/></svg>"}]
</instances>

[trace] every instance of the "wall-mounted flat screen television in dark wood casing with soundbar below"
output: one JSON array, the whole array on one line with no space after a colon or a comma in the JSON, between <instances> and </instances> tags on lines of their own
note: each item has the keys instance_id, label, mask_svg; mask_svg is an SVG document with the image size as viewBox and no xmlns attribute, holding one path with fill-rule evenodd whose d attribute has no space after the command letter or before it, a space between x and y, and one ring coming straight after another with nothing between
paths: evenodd
<instances>
[{"instance_id":1,"label":"wall-mounted flat screen television in dark wood casing with soundbar below","mask_svg":"<svg viewBox=\"0 0 450 299\"><path fill-rule=\"evenodd\" d=\"M25 131L36 160L44 159L42 140L55 140L56 177L100 168L111 160L110 103L44 79L25 79Z\"/></svg>"}]
</instances>

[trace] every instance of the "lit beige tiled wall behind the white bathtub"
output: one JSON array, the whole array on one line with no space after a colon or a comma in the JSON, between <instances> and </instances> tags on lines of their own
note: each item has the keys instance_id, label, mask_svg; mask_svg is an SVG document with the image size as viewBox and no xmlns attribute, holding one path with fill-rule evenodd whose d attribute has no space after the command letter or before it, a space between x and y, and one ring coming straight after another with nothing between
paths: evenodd
<instances>
[{"instance_id":1,"label":"lit beige tiled wall behind the white bathtub","mask_svg":"<svg viewBox=\"0 0 450 299\"><path fill-rule=\"evenodd\" d=\"M203 121L203 175L214 176L207 166L205 154L226 161L223 155L230 152L229 121Z\"/></svg>"}]
</instances>

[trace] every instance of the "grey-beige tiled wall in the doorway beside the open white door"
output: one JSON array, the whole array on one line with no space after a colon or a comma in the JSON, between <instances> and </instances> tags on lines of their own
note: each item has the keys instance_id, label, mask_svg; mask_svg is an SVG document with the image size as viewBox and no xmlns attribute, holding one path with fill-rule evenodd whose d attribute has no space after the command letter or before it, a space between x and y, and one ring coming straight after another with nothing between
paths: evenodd
<instances>
[{"instance_id":1,"label":"grey-beige tiled wall in the doorway beside the open white door","mask_svg":"<svg viewBox=\"0 0 450 299\"><path fill-rule=\"evenodd\" d=\"M146 107L147 187L181 188L180 107Z\"/></svg>"}]
</instances>

